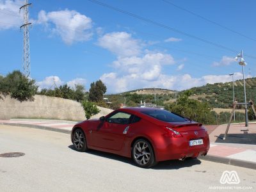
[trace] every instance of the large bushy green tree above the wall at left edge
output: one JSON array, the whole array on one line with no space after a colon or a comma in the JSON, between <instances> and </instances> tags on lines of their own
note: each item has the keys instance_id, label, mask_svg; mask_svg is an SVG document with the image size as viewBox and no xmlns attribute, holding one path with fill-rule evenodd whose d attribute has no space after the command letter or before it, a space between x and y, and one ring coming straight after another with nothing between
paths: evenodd
<instances>
[{"instance_id":1,"label":"large bushy green tree above the wall at left edge","mask_svg":"<svg viewBox=\"0 0 256 192\"><path fill-rule=\"evenodd\" d=\"M19 70L14 70L6 77L0 79L0 92L3 95L10 94L12 98L19 100L33 100L38 86L34 79L24 76Z\"/></svg>"}]
</instances>

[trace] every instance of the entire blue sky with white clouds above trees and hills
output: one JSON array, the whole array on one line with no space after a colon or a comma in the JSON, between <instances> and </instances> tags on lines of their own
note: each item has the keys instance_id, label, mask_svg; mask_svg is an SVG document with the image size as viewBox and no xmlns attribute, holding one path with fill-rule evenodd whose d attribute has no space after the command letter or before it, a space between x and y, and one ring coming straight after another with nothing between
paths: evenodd
<instances>
[{"instance_id":1,"label":"entire blue sky with white clouds above trees and hills","mask_svg":"<svg viewBox=\"0 0 256 192\"><path fill-rule=\"evenodd\" d=\"M256 76L254 0L99 1L168 29L92 1L31 0L31 77L40 88L50 88L55 81L57 85L84 84L88 90L90 83L101 79L107 93L119 93L137 88L184 90L227 82L230 73L235 73L235 79L243 78L242 68L234 60L241 49L248 63L245 76ZM2 75L22 71L22 4L24 1L0 0Z\"/></svg>"}]
</instances>

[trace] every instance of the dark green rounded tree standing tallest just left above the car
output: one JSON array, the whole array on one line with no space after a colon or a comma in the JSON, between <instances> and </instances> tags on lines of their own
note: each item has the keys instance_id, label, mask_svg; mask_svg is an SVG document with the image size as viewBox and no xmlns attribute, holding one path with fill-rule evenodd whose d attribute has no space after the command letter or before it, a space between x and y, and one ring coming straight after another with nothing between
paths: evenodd
<instances>
[{"instance_id":1,"label":"dark green rounded tree standing tallest just left above the car","mask_svg":"<svg viewBox=\"0 0 256 192\"><path fill-rule=\"evenodd\" d=\"M103 100L103 93L106 93L107 87L101 80L91 83L89 90L89 100L92 102L99 102Z\"/></svg>"}]
</instances>

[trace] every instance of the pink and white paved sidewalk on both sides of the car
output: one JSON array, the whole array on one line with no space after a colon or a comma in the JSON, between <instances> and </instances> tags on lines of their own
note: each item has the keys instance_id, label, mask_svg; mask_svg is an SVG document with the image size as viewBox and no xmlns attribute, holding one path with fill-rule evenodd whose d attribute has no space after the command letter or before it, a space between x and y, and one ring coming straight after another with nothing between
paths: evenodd
<instances>
[{"instance_id":1,"label":"pink and white paved sidewalk on both sides of the car","mask_svg":"<svg viewBox=\"0 0 256 192\"><path fill-rule=\"evenodd\" d=\"M70 133L77 122L64 120L12 119L0 120L0 124L33 127L49 131ZM218 163L232 164L256 170L256 124L243 130L243 124L231 124L226 140L222 140L227 125L209 125L211 148L207 156L200 159Z\"/></svg>"}]
</instances>

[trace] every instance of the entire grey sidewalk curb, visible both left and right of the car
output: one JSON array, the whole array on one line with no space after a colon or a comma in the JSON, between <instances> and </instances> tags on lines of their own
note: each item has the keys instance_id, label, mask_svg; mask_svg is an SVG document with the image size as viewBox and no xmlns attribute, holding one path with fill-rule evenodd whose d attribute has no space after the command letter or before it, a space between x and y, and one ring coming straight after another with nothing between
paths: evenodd
<instances>
[{"instance_id":1,"label":"entire grey sidewalk curb, visible both left and right of the car","mask_svg":"<svg viewBox=\"0 0 256 192\"><path fill-rule=\"evenodd\" d=\"M53 128L53 127L47 127L47 126L42 126L42 125L15 124L15 123L0 123L0 125L29 127L29 128L35 128L35 129L43 129L43 130L47 130L47 131L61 132L61 133L65 133L65 134L70 134L70 132L71 132L66 129ZM211 155L198 156L198 159L202 159L205 161L212 161L212 162L216 162L216 163L230 164L230 165L234 165L234 166L240 166L240 167L256 170L256 163L253 163L250 161L243 161L243 160L239 160L239 159L231 159L228 157L218 157L218 156L211 156Z\"/></svg>"}]
</instances>

